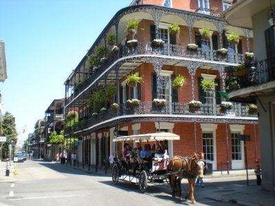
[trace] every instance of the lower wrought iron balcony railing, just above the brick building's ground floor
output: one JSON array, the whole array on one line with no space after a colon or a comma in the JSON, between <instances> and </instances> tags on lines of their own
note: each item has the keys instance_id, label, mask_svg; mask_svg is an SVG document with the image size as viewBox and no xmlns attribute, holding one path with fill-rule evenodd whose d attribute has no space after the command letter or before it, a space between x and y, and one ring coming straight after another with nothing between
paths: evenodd
<instances>
[{"instance_id":1,"label":"lower wrought iron balcony railing, just above the brick building's ground floor","mask_svg":"<svg viewBox=\"0 0 275 206\"><path fill-rule=\"evenodd\" d=\"M157 107L153 105L153 102L142 102L138 106L131 107L127 104L120 104L118 111L114 111L109 108L104 113L98 113L98 115L90 114L89 117L84 117L83 120L78 122L72 128L65 128L65 133L69 131L76 131L89 126L94 126L100 122L113 117L119 117L122 115L146 115L146 114L158 114L158 115L209 115L209 116L224 116L224 117L256 117L257 113L250 113L246 104L234 103L232 108L228 110L221 109L219 104L203 104L199 108L190 109L188 103L166 103L163 107ZM173 117L172 117L173 118ZM190 120L191 121L191 120Z\"/></svg>"}]
</instances>

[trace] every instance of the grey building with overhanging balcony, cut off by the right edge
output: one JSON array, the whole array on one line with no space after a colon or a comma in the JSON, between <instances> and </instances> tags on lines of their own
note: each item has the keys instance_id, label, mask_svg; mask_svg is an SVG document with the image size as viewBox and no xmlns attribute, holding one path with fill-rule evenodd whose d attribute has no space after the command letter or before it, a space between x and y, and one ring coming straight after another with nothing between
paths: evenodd
<instances>
[{"instance_id":1,"label":"grey building with overhanging balcony, cut off by the right edge","mask_svg":"<svg viewBox=\"0 0 275 206\"><path fill-rule=\"evenodd\" d=\"M259 134L263 170L262 187L275 191L275 30L274 8L270 1L237 1L223 18L231 25L248 27L254 33L256 61L245 68L245 76L235 78L238 88L229 93L231 100L249 102L259 108Z\"/></svg>"}]
</instances>

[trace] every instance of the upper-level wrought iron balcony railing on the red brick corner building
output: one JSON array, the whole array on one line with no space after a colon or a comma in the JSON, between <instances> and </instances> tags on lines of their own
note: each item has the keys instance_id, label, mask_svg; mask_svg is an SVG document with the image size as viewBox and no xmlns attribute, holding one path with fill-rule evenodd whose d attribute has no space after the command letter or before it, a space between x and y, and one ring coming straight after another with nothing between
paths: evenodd
<instances>
[{"instance_id":1,"label":"upper-level wrought iron balcony railing on the red brick corner building","mask_svg":"<svg viewBox=\"0 0 275 206\"><path fill-rule=\"evenodd\" d=\"M136 56L136 55L159 55L159 56L177 56L184 58L195 58L199 60L211 60L214 62L230 62L233 64L239 64L244 62L243 54L230 54L220 55L217 50L204 50L198 48L197 51L190 52L187 49L187 45L170 45L164 44L162 48L153 48L151 42L139 42L137 47L129 48L126 45L120 46L120 52L118 54L110 54L104 64L98 67L91 68L92 75L85 81L82 82L82 87L78 88L74 94L67 98L66 104L72 100L80 91L83 91L91 82L93 82L105 69L113 64L118 58L123 58L126 56Z\"/></svg>"}]
</instances>

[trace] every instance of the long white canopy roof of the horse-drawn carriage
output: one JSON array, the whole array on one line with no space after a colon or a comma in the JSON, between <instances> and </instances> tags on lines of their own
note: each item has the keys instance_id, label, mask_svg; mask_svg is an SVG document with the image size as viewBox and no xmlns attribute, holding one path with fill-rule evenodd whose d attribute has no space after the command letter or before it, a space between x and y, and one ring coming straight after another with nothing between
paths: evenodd
<instances>
[{"instance_id":1,"label":"long white canopy roof of the horse-drawn carriage","mask_svg":"<svg viewBox=\"0 0 275 206\"><path fill-rule=\"evenodd\" d=\"M164 141L179 140L179 135L174 133L148 133L144 135L130 135L124 137L115 137L113 141Z\"/></svg>"}]
</instances>

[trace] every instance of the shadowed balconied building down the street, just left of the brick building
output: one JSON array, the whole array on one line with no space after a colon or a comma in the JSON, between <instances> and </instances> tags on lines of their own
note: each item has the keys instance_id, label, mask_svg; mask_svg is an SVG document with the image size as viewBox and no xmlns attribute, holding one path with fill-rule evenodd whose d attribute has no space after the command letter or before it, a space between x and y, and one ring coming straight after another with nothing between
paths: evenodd
<instances>
[{"instance_id":1,"label":"shadowed balconied building down the street, just left of the brick building","mask_svg":"<svg viewBox=\"0 0 275 206\"><path fill-rule=\"evenodd\" d=\"M48 142L48 137L52 132L57 135L64 130L64 99L53 100L50 106L45 111L45 127L41 134L41 153L43 159L48 161L56 160L56 154L61 153L61 148Z\"/></svg>"}]
</instances>

